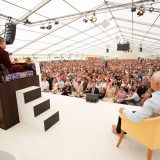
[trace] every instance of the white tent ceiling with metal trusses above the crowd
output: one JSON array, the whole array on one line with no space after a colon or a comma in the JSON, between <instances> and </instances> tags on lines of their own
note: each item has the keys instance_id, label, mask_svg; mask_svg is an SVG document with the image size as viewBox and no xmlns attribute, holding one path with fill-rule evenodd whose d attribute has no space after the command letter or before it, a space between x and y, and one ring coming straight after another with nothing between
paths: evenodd
<instances>
[{"instance_id":1,"label":"white tent ceiling with metal trusses above the crowd","mask_svg":"<svg viewBox=\"0 0 160 160\"><path fill-rule=\"evenodd\" d=\"M16 38L7 50L13 55L106 55L116 56L117 43L129 41L133 52L142 44L142 56L159 55L160 4L158 0L0 0L0 35L8 17L17 23ZM137 16L139 7L145 8ZM153 12L148 9L154 7ZM97 21L90 21L95 12ZM28 20L32 24L24 25ZM85 23L83 19L88 19ZM104 28L102 22L107 20ZM58 21L58 25L54 25ZM52 24L52 29L40 29ZM106 48L109 53L106 53Z\"/></svg>"}]
</instances>

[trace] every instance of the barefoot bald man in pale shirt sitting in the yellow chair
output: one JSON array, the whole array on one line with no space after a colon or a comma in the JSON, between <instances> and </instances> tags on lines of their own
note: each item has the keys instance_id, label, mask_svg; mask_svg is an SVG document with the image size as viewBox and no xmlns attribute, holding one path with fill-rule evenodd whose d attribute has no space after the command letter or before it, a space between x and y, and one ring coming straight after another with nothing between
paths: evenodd
<instances>
[{"instance_id":1,"label":"barefoot bald man in pale shirt sitting in the yellow chair","mask_svg":"<svg viewBox=\"0 0 160 160\"><path fill-rule=\"evenodd\" d=\"M147 99L141 109L133 112L129 109L121 107L119 113L124 114L130 121L139 123L146 118L160 116L160 71L155 72L151 77L151 88L155 91L152 97ZM118 124L112 125L112 131L115 134L121 132L121 118L119 117Z\"/></svg>"}]
</instances>

